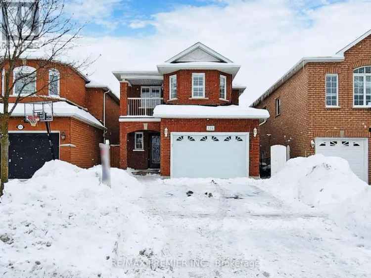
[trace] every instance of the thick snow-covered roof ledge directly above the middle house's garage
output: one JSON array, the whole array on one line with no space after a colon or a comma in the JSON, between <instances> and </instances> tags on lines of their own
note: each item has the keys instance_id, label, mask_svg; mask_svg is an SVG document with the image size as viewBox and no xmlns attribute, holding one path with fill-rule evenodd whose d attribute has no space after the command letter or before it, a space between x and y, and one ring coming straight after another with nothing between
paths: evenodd
<instances>
[{"instance_id":1,"label":"thick snow-covered roof ledge directly above the middle house's garage","mask_svg":"<svg viewBox=\"0 0 371 278\"><path fill-rule=\"evenodd\" d=\"M268 119L265 109L229 106L203 105L157 105L153 110L155 118L210 118L210 119Z\"/></svg>"}]
</instances>

